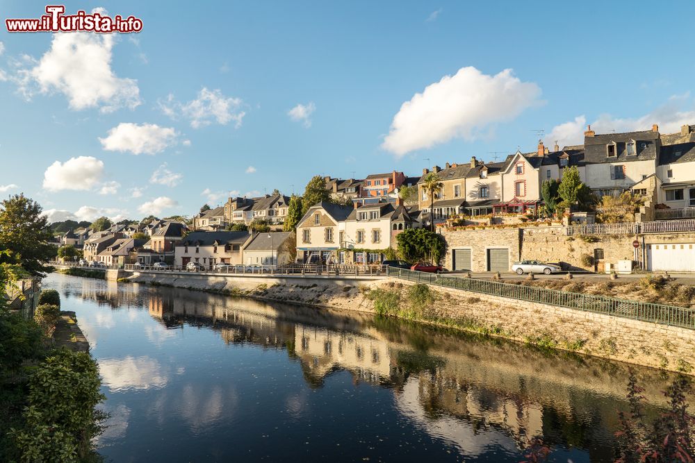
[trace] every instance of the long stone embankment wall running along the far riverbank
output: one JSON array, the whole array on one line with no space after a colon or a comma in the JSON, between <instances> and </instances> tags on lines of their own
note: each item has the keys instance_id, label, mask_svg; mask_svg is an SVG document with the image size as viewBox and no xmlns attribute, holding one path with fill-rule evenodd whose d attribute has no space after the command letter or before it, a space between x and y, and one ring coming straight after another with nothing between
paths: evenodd
<instances>
[{"instance_id":1,"label":"long stone embankment wall running along the far riverbank","mask_svg":"<svg viewBox=\"0 0 695 463\"><path fill-rule=\"evenodd\" d=\"M360 312L374 312L374 303L367 296L370 289L398 291L405 300L409 286L413 285L397 278L172 276L145 272L136 273L130 280ZM695 330L458 289L430 289L436 294L434 306L445 326L646 367L695 373Z\"/></svg>"}]
</instances>

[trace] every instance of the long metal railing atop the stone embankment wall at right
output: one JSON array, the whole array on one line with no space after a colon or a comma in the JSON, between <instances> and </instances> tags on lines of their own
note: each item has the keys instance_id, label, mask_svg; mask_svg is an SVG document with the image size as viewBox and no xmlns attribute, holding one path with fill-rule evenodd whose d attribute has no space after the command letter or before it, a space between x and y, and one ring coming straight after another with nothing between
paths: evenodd
<instances>
[{"instance_id":1,"label":"long metal railing atop the stone embankment wall at right","mask_svg":"<svg viewBox=\"0 0 695 463\"><path fill-rule=\"evenodd\" d=\"M501 296L518 301L528 301L558 307L612 315L626 319L650 321L668 326L695 329L695 310L673 305L663 305L596 294L581 294L537 286L513 285L476 278L459 278L436 273L424 273L390 267L387 274L403 280L463 289L464 291Z\"/></svg>"}]
</instances>

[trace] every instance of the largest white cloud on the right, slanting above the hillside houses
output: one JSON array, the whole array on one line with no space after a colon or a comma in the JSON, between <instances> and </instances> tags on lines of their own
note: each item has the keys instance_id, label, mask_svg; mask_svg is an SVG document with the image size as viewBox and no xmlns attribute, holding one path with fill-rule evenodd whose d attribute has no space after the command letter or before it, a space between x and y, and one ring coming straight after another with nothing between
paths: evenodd
<instances>
[{"instance_id":1,"label":"largest white cloud on the right, slanting above the hillside houses","mask_svg":"<svg viewBox=\"0 0 695 463\"><path fill-rule=\"evenodd\" d=\"M402 156L453 138L475 140L485 128L541 104L540 94L538 85L520 81L512 69L489 76L462 67L402 104L382 148Z\"/></svg>"}]
</instances>

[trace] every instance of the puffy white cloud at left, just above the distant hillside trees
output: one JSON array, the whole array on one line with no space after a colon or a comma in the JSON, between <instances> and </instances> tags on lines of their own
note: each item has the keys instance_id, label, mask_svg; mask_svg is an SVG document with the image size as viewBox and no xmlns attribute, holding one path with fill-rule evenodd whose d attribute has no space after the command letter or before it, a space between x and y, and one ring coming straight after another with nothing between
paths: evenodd
<instances>
[{"instance_id":1,"label":"puffy white cloud at left, just above the distant hillside trees","mask_svg":"<svg viewBox=\"0 0 695 463\"><path fill-rule=\"evenodd\" d=\"M90 190L104 174L104 162L92 156L70 158L61 163L54 162L44 173L43 187L58 190Z\"/></svg>"}]
</instances>

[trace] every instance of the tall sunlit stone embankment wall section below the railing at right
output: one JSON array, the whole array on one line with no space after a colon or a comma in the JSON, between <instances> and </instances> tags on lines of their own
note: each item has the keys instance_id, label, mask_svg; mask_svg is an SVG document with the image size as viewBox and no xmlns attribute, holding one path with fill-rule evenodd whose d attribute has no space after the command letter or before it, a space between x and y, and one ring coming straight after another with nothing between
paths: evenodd
<instances>
[{"instance_id":1,"label":"tall sunlit stone embankment wall section below the railing at right","mask_svg":"<svg viewBox=\"0 0 695 463\"><path fill-rule=\"evenodd\" d=\"M414 283L392 278L391 290ZM430 287L439 316L516 341L695 373L695 330L458 289Z\"/></svg>"}]
</instances>

